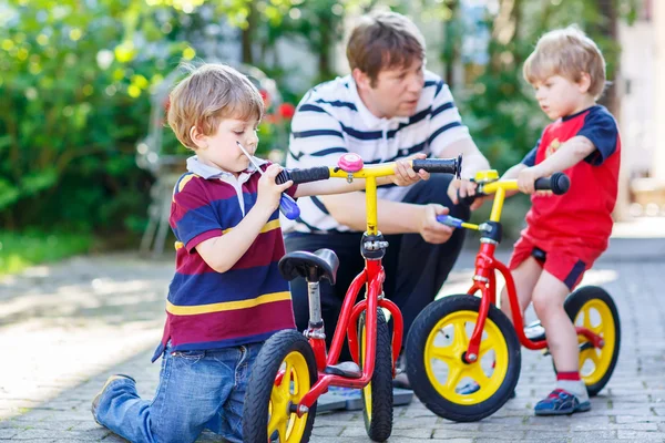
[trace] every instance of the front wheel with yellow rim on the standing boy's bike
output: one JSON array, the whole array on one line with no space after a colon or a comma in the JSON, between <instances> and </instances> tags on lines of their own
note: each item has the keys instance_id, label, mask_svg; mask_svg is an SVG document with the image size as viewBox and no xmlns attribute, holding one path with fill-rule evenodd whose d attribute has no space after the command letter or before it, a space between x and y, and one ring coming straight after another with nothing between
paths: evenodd
<instances>
[{"instance_id":1,"label":"front wheel with yellow rim on the standing boy's bike","mask_svg":"<svg viewBox=\"0 0 665 443\"><path fill-rule=\"evenodd\" d=\"M520 343L510 320L490 307L478 360L467 362L480 299L468 295L430 303L407 338L407 372L413 391L437 415L467 422L501 408L520 377Z\"/></svg>"}]
</instances>

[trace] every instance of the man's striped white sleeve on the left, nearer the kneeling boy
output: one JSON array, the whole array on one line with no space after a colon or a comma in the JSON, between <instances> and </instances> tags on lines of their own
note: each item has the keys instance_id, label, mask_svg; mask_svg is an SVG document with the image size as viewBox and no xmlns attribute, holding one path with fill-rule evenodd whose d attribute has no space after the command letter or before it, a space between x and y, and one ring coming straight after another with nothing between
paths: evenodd
<instances>
[{"instance_id":1,"label":"man's striped white sleeve on the left, nearer the kneeling boy","mask_svg":"<svg viewBox=\"0 0 665 443\"><path fill-rule=\"evenodd\" d=\"M348 153L341 123L319 103L305 96L291 120L288 167L335 166Z\"/></svg>"}]
</instances>

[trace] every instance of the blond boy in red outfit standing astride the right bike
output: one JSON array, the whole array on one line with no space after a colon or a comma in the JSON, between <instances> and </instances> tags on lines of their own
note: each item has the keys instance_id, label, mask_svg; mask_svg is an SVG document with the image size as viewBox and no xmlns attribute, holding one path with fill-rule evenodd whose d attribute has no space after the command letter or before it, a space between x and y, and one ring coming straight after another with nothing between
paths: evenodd
<instances>
[{"instance_id":1,"label":"blond boy in red outfit standing astride the right bike","mask_svg":"<svg viewBox=\"0 0 665 443\"><path fill-rule=\"evenodd\" d=\"M522 312L533 302L546 330L556 388L535 405L536 415L589 411L580 378L577 334L563 309L566 296L607 248L616 202L621 140L614 117L596 104L605 86L605 61L596 44L574 27L544 34L524 63L524 78L554 122L535 147L503 178L532 194L526 228L514 245L510 269ZM534 192L536 178L555 172L571 179L561 196ZM510 316L505 288L502 310Z\"/></svg>"}]
</instances>

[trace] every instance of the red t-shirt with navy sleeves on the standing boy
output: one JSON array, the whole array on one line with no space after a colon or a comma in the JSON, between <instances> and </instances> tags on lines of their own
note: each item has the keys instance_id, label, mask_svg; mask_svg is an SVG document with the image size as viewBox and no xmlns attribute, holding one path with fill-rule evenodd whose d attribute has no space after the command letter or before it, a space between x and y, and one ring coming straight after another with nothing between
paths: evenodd
<instances>
[{"instance_id":1,"label":"red t-shirt with navy sleeves on the standing boy","mask_svg":"<svg viewBox=\"0 0 665 443\"><path fill-rule=\"evenodd\" d=\"M597 257L605 250L612 233L621 159L616 121L601 105L560 119L545 127L522 163L539 164L577 135L589 138L596 150L563 171L571 179L566 194L557 196L545 190L531 196L522 236L545 250L565 248L584 260L591 259L585 255Z\"/></svg>"}]
</instances>

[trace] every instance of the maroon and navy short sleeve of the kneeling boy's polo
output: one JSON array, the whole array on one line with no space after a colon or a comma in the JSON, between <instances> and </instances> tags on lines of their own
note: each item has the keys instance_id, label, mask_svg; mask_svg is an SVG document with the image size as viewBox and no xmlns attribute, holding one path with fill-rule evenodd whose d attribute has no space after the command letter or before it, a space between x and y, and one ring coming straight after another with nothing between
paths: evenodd
<instances>
[{"instance_id":1,"label":"maroon and navy short sleeve of the kneeling boy's polo","mask_svg":"<svg viewBox=\"0 0 665 443\"><path fill-rule=\"evenodd\" d=\"M223 234L217 214L194 175L177 183L171 203L171 227L176 238L192 251L198 244Z\"/></svg>"}]
</instances>

